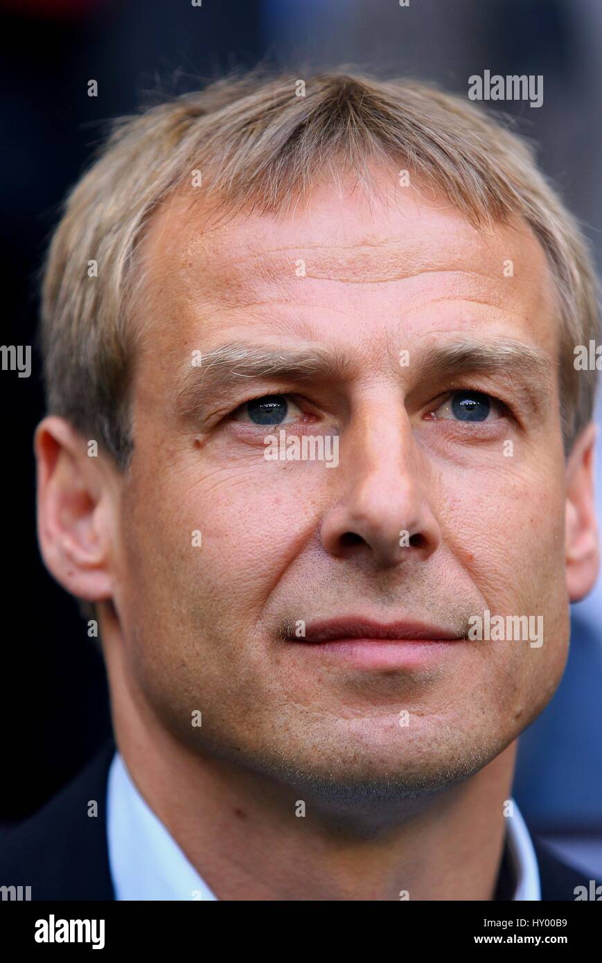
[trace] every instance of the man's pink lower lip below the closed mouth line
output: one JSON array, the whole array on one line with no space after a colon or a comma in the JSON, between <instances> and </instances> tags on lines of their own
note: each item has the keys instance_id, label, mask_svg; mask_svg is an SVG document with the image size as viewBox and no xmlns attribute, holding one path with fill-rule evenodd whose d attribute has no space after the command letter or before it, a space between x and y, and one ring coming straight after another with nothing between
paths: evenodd
<instances>
[{"instance_id":1,"label":"man's pink lower lip below the closed mouth line","mask_svg":"<svg viewBox=\"0 0 602 963\"><path fill-rule=\"evenodd\" d=\"M308 655L357 668L403 669L438 662L463 648L465 638L337 638L295 642Z\"/></svg>"}]
</instances>

